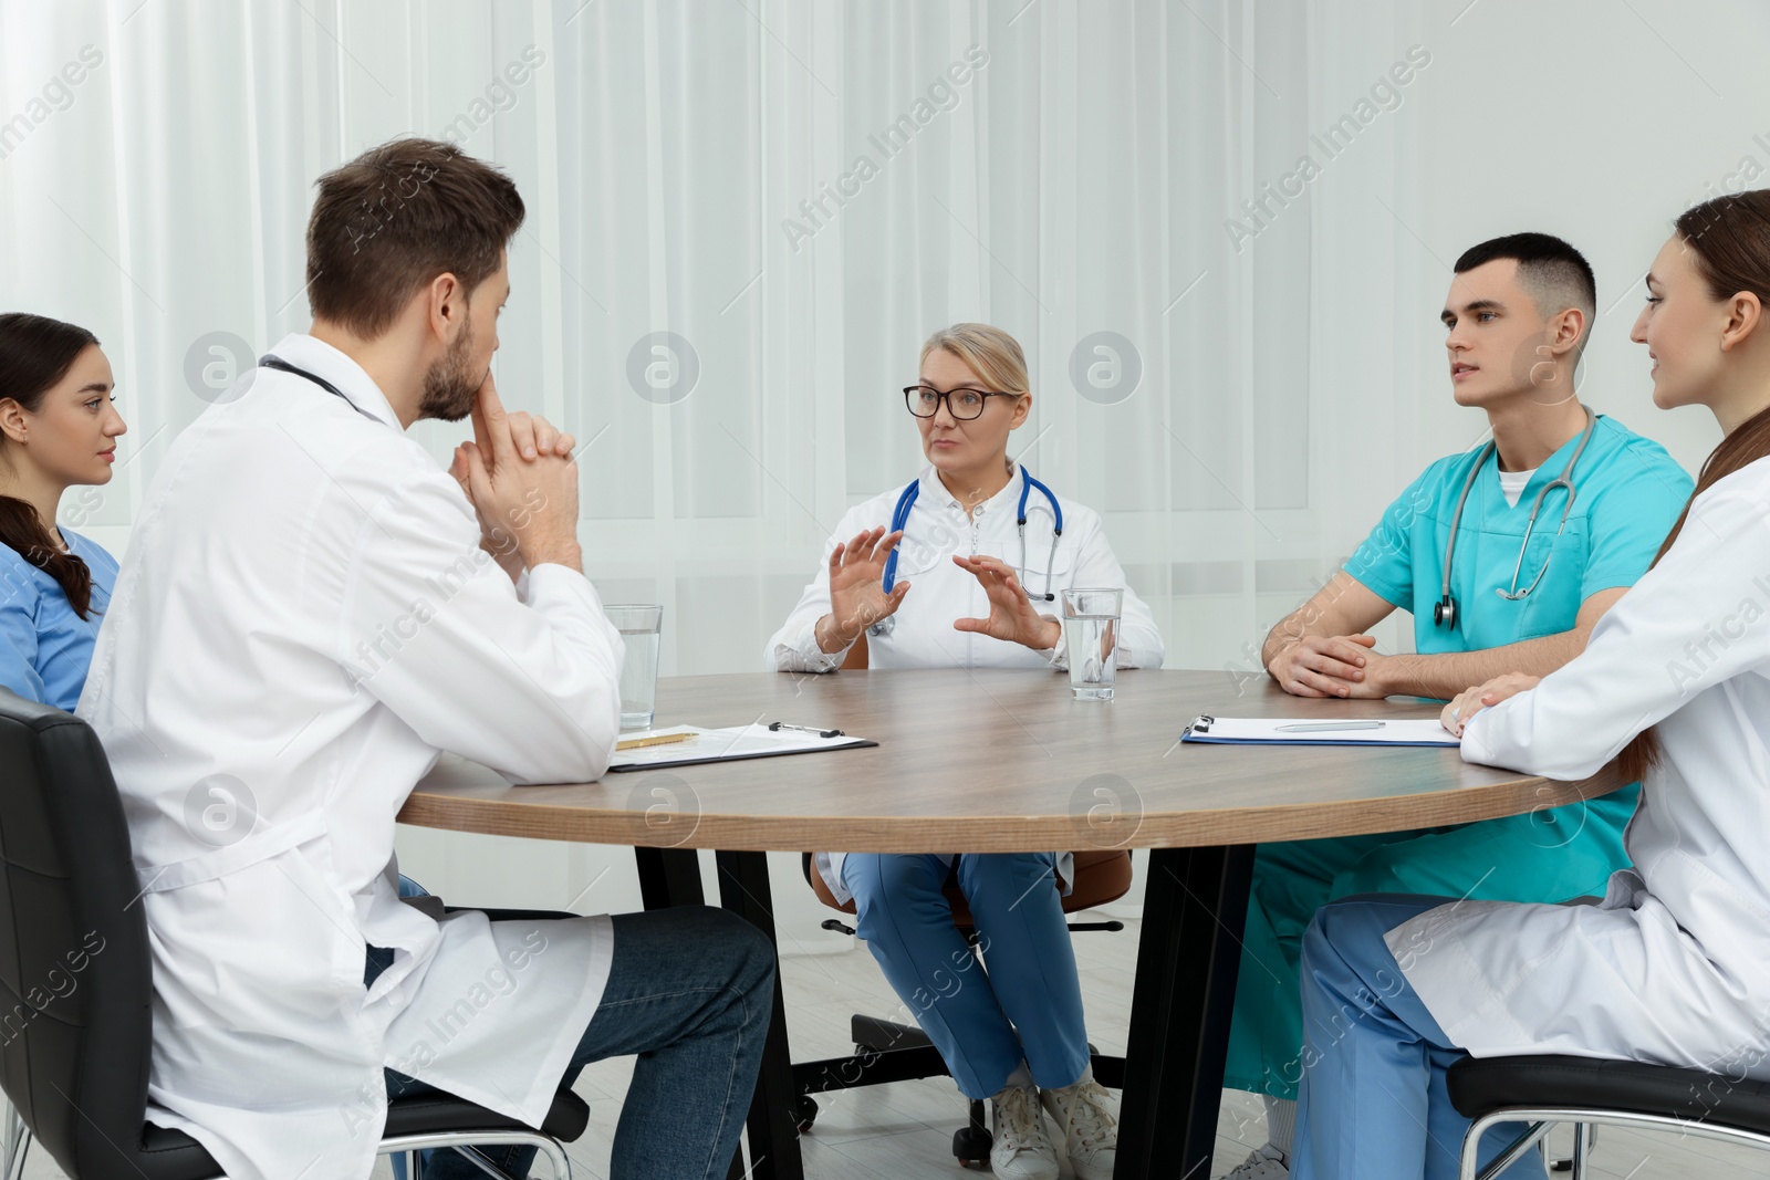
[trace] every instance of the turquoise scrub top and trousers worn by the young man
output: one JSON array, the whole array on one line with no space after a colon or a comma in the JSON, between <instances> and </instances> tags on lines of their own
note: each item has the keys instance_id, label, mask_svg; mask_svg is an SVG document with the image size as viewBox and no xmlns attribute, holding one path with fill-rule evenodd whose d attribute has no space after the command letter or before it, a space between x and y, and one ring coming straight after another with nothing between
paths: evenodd
<instances>
[{"instance_id":1,"label":"turquoise scrub top and trousers worn by the young man","mask_svg":"<svg viewBox=\"0 0 1770 1180\"><path fill-rule=\"evenodd\" d=\"M1503 647L1574 630L1586 598L1634 586L1646 573L1692 488L1660 444L1598 418L1572 474L1566 529L1556 536L1566 504L1561 488L1543 497L1536 515L1519 589L1547 559L1543 580L1522 600L1506 601L1494 591L1512 586L1531 504L1577 446L1574 435L1551 455L1517 506L1506 504L1499 460L1483 458L1485 448L1437 460L1382 513L1345 571L1414 614L1414 646L1425 653ZM1469 487L1451 559L1457 626L1435 626L1432 605L1443 594L1450 520L1478 460L1481 471ZM1235 984L1228 1084L1296 1097L1292 1070L1303 1044L1296 948L1319 906L1374 888L1460 893L1478 902L1561 902L1602 892L1609 874L1628 865L1623 826L1639 793L1630 784L1586 803L1453 828L1262 846Z\"/></svg>"}]
</instances>

